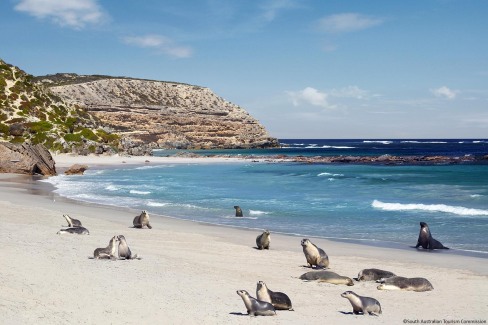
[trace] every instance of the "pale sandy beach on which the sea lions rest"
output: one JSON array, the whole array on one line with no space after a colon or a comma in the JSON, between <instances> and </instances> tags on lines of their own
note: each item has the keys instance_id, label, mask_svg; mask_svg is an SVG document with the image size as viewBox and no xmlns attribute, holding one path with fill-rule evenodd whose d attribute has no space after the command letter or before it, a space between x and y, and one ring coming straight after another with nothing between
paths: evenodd
<instances>
[{"instance_id":1,"label":"pale sandy beach on which the sea lions rest","mask_svg":"<svg viewBox=\"0 0 488 325\"><path fill-rule=\"evenodd\" d=\"M74 163L211 163L229 158L53 156L58 172ZM83 177L83 176L80 176ZM41 184L42 185L42 184ZM356 277L380 268L424 277L429 292L380 291L303 282L309 268L301 237L271 234L271 249L255 249L255 230L214 226L151 214L153 229L132 228L140 211L73 202L29 176L0 175L1 324L409 324L488 320L488 259L310 238L330 258L330 270ZM57 235L63 214L90 235ZM124 235L140 260L95 260L93 251ZM412 239L412 244L416 238ZM294 311L249 317L236 290L256 296L256 283L286 293ZM382 315L353 315L340 294L377 299Z\"/></svg>"}]
</instances>

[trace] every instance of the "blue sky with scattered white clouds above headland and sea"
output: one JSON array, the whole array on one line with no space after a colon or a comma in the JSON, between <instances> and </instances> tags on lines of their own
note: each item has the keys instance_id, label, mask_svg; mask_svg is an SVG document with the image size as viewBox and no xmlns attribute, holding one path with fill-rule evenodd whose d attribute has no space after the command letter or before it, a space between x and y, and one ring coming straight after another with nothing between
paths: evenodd
<instances>
[{"instance_id":1,"label":"blue sky with scattered white clouds above headland and sea","mask_svg":"<svg viewBox=\"0 0 488 325\"><path fill-rule=\"evenodd\" d=\"M488 138L485 0L0 0L33 75L209 87L278 138Z\"/></svg>"}]
</instances>

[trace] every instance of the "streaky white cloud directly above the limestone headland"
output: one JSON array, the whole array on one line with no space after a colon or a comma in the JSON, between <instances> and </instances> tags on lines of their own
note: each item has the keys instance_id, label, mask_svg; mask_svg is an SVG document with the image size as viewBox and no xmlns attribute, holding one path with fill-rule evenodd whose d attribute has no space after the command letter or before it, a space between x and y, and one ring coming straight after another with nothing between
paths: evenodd
<instances>
[{"instance_id":1,"label":"streaky white cloud directly above the limestone headland","mask_svg":"<svg viewBox=\"0 0 488 325\"><path fill-rule=\"evenodd\" d=\"M128 45L152 48L159 53L176 58L188 58L192 55L190 47L178 45L172 39L162 35L127 36L123 41Z\"/></svg>"}]
</instances>

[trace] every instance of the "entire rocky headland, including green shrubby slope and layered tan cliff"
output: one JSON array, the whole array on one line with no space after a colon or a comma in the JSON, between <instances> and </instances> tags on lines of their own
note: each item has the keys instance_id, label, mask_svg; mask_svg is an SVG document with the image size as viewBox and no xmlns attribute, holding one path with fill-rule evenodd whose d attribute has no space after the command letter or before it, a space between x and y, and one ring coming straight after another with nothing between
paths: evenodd
<instances>
[{"instance_id":1,"label":"entire rocky headland, including green shrubby slope and layered tan cliff","mask_svg":"<svg viewBox=\"0 0 488 325\"><path fill-rule=\"evenodd\" d=\"M33 77L2 60L0 141L79 155L279 146L245 109L206 87L70 73Z\"/></svg>"}]
</instances>

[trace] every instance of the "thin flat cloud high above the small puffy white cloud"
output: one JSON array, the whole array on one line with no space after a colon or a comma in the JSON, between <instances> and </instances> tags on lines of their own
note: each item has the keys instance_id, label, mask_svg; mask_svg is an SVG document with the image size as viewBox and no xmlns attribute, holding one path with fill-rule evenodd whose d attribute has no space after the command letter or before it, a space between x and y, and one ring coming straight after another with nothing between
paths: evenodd
<instances>
[{"instance_id":1,"label":"thin flat cloud high above the small puffy white cloud","mask_svg":"<svg viewBox=\"0 0 488 325\"><path fill-rule=\"evenodd\" d=\"M326 33L348 33L367 29L383 23L383 19L369 17L358 13L330 15L318 22L320 31Z\"/></svg>"}]
</instances>

